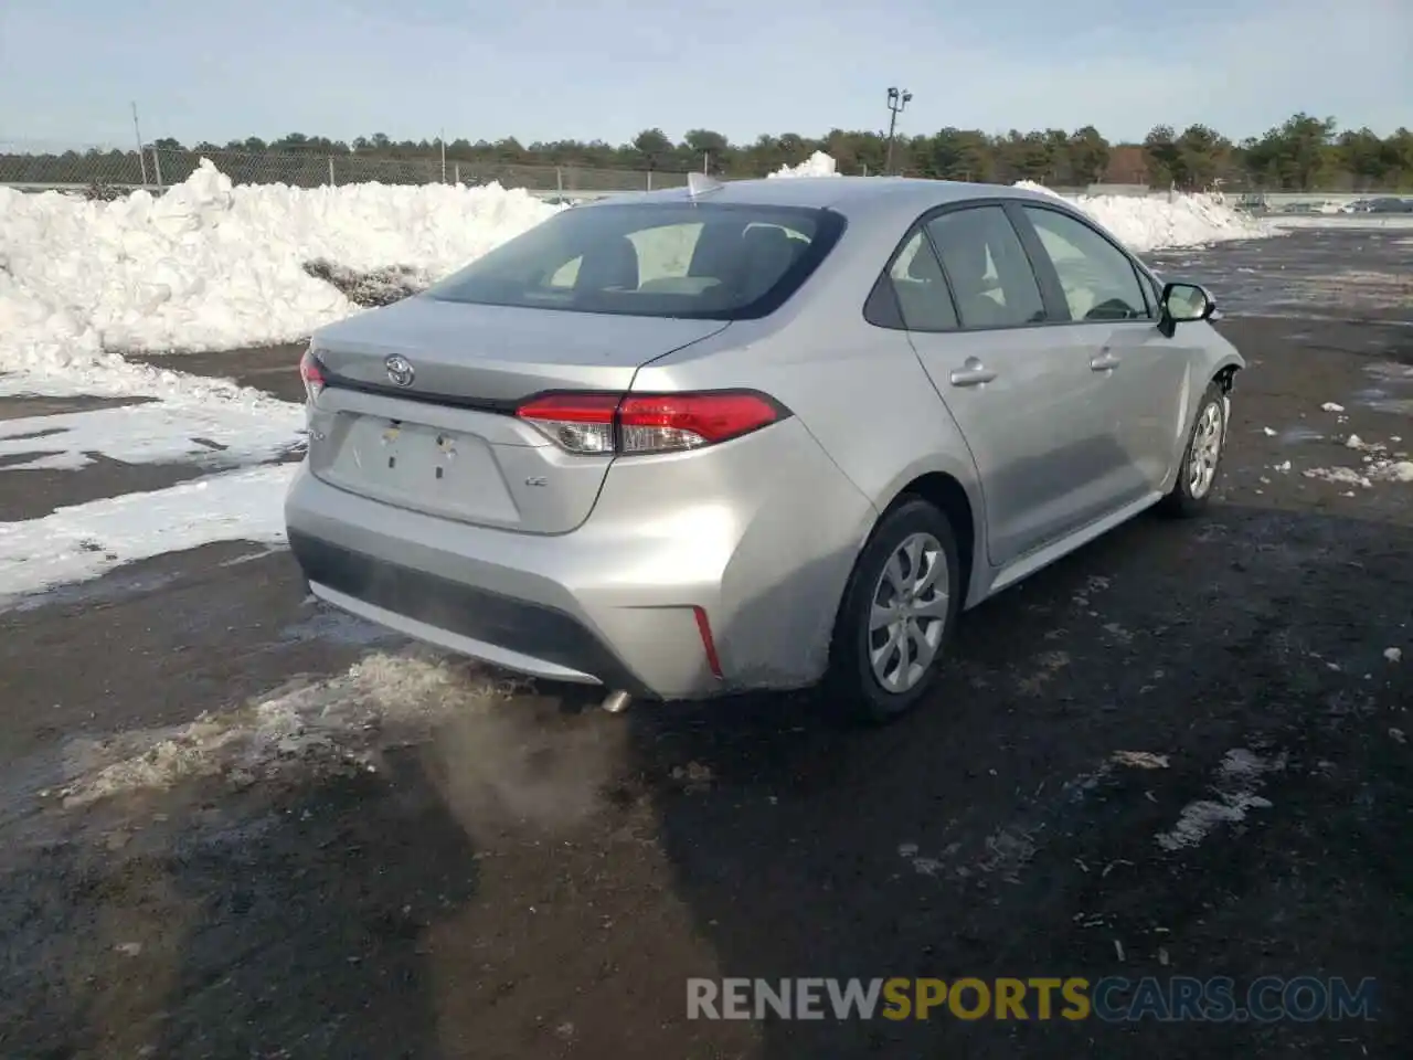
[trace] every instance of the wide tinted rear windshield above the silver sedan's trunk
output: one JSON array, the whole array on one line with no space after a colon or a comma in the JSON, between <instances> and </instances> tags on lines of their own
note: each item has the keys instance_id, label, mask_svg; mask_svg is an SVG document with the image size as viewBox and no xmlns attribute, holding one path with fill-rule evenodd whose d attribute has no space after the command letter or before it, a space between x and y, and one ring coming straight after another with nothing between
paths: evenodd
<instances>
[{"instance_id":1,"label":"wide tinted rear windshield above the silver sedan's trunk","mask_svg":"<svg viewBox=\"0 0 1413 1060\"><path fill-rule=\"evenodd\" d=\"M427 297L633 317L763 317L805 281L842 230L841 215L798 206L577 206L476 259Z\"/></svg>"}]
</instances>

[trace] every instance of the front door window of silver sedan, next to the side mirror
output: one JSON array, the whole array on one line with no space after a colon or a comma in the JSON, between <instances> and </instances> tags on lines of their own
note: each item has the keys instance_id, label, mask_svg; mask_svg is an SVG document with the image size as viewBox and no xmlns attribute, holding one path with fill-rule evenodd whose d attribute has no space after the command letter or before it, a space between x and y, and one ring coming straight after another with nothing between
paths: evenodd
<instances>
[{"instance_id":1,"label":"front door window of silver sedan, next to the side mirror","mask_svg":"<svg viewBox=\"0 0 1413 1060\"><path fill-rule=\"evenodd\" d=\"M1149 319L1149 302L1128 254L1084 222L1058 211L1023 209L1060 276L1071 319Z\"/></svg>"}]
</instances>

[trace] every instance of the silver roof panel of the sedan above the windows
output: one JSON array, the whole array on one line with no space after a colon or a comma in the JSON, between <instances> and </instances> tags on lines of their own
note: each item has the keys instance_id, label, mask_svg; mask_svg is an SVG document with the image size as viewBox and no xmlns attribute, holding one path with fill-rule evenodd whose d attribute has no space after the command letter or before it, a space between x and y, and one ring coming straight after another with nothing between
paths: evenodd
<instances>
[{"instance_id":1,"label":"silver roof panel of the sedan above the windows","mask_svg":"<svg viewBox=\"0 0 1413 1060\"><path fill-rule=\"evenodd\" d=\"M808 206L834 209L845 216L900 212L916 216L931 206L965 199L1016 198L1058 202L1053 195L1016 188L1006 184L968 184L962 181L928 181L910 177L787 177L745 181L721 181L716 188L698 196L702 204L739 204L757 206ZM687 202L687 188L615 195L596 204Z\"/></svg>"}]
</instances>

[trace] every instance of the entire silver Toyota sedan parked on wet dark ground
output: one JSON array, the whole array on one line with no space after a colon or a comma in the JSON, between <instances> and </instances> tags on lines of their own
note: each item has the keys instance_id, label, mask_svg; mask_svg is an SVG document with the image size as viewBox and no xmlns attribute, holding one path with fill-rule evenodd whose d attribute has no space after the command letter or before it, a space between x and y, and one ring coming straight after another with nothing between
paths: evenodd
<instances>
[{"instance_id":1,"label":"entire silver Toyota sedan parked on wet dark ground","mask_svg":"<svg viewBox=\"0 0 1413 1060\"><path fill-rule=\"evenodd\" d=\"M318 598L610 708L829 674L887 719L961 611L1208 503L1214 310L1015 188L588 204L314 336L290 546Z\"/></svg>"}]
</instances>

